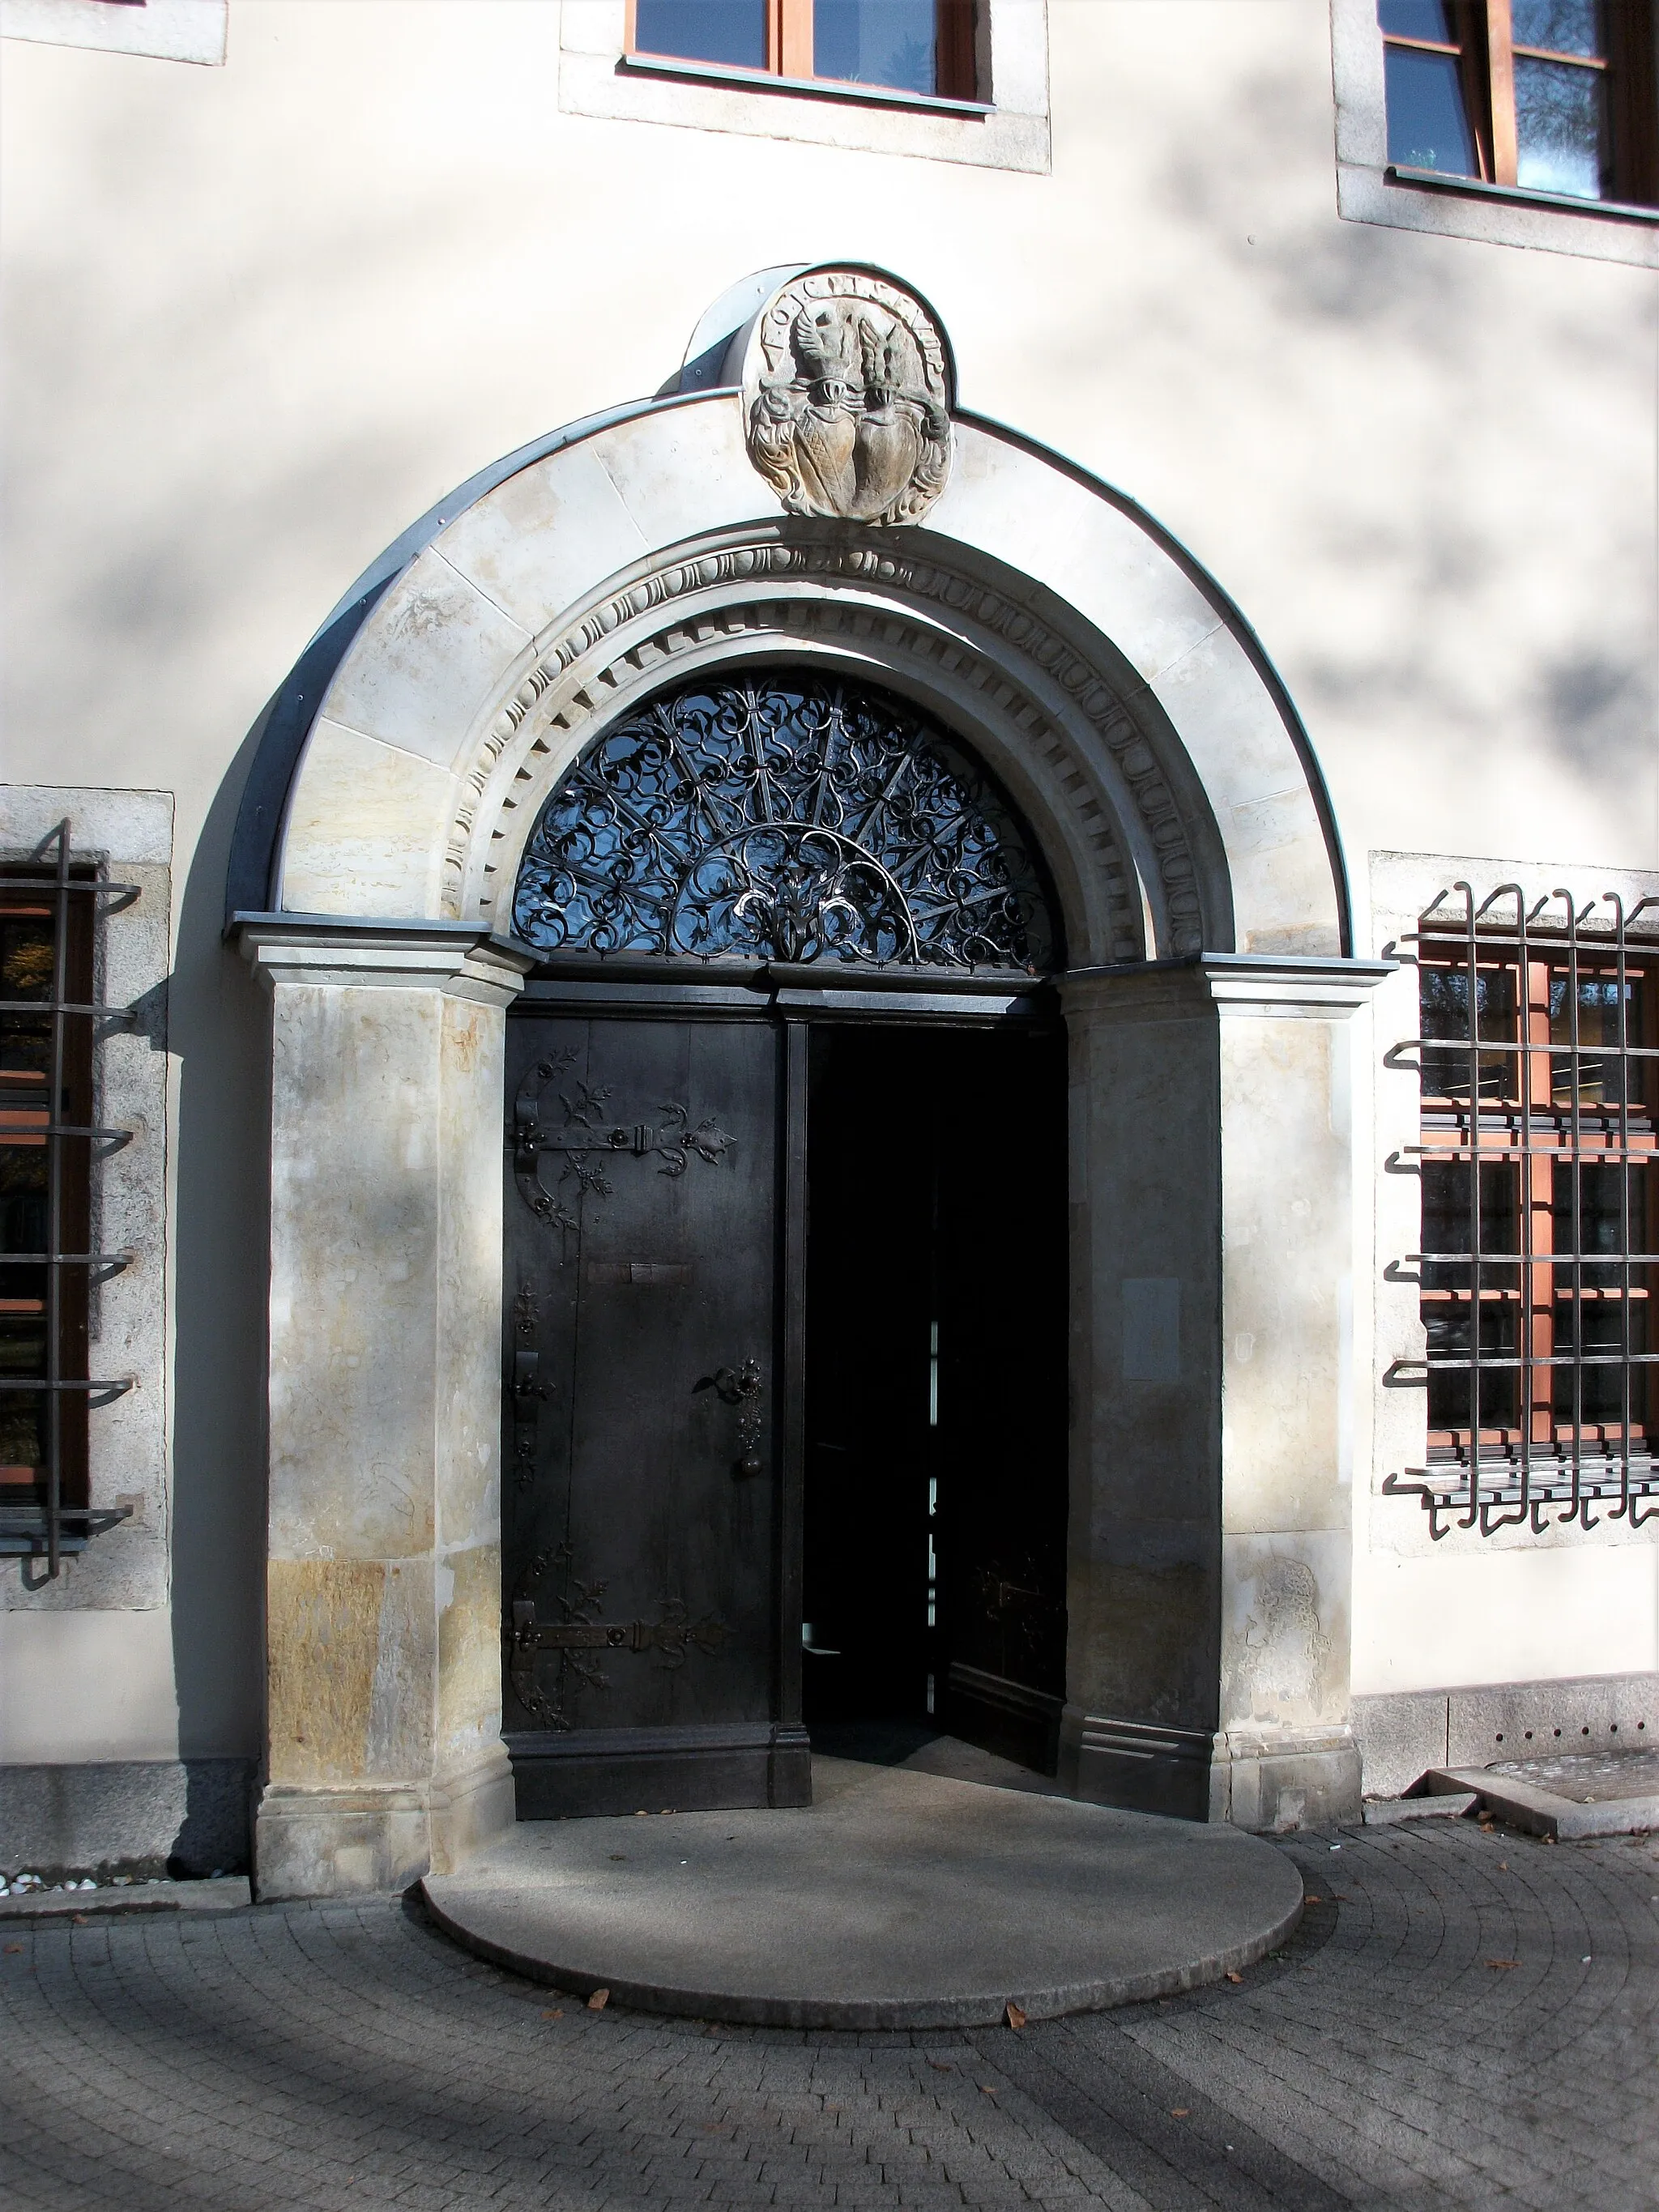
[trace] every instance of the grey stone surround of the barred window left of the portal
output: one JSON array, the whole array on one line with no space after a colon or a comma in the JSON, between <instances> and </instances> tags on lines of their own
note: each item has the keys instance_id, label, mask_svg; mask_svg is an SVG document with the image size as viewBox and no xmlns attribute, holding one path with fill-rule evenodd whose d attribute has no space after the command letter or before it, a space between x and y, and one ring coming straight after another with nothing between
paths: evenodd
<instances>
[{"instance_id":1,"label":"grey stone surround of the barred window left of the portal","mask_svg":"<svg viewBox=\"0 0 1659 2212\"><path fill-rule=\"evenodd\" d=\"M168 1601L168 1405L166 1405L166 980L173 945L173 794L0 785L0 852L27 858L69 818L77 858L139 885L128 907L106 911L95 938L95 1002L135 1006L133 1029L100 1024L97 1124L128 1128L131 1144L93 1161L93 1250L133 1261L95 1283L93 1374L135 1387L97 1405L88 1433L88 1498L131 1506L131 1517L66 1555L55 1582L44 1562L15 1557L4 1571L4 1613L150 1608ZM104 905L104 900L100 900ZM108 905L115 905L113 900Z\"/></svg>"}]
</instances>

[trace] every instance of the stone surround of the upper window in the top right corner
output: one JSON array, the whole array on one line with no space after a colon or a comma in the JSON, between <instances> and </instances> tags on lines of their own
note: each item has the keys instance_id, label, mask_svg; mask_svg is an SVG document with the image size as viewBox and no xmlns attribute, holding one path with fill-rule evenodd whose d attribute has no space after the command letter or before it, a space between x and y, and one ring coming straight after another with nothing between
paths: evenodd
<instances>
[{"instance_id":1,"label":"stone surround of the upper window in the top right corner","mask_svg":"<svg viewBox=\"0 0 1659 2212\"><path fill-rule=\"evenodd\" d=\"M1659 268L1659 208L1573 204L1553 192L1460 177L1429 184L1394 170L1376 0L1332 0L1332 91L1343 221Z\"/></svg>"}]
</instances>

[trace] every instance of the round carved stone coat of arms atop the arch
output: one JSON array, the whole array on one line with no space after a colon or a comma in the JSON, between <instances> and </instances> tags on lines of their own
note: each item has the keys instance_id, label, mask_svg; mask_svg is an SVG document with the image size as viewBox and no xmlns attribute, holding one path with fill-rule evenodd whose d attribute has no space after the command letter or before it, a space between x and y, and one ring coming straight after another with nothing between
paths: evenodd
<instances>
[{"instance_id":1,"label":"round carved stone coat of arms atop the arch","mask_svg":"<svg viewBox=\"0 0 1659 2212\"><path fill-rule=\"evenodd\" d=\"M750 460L792 515L916 522L951 473L940 332L865 270L814 270L768 301L743 414Z\"/></svg>"}]
</instances>

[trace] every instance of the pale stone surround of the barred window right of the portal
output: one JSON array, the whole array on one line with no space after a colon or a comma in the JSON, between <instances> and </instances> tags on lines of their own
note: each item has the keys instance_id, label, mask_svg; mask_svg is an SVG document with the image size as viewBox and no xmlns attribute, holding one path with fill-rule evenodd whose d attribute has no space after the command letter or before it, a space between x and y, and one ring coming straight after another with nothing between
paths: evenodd
<instances>
[{"instance_id":1,"label":"pale stone surround of the barred window right of the portal","mask_svg":"<svg viewBox=\"0 0 1659 2212\"><path fill-rule=\"evenodd\" d=\"M1639 898L1659 894L1659 874L1628 867L1584 867L1559 860L1502 860L1469 854L1418 854L1418 852L1371 852L1369 854L1369 949L1378 958L1400 958L1405 931L1416 929L1418 916L1438 891L1467 880L1475 887L1475 898L1484 898L1502 883L1524 885L1533 898L1564 885L1579 909L1588 900L1599 900L1601 891L1617 891L1626 909ZM1427 1453L1427 1391L1400 1387L1389 1380L1396 1363L1422 1360L1422 1323L1418 1314L1416 1276L1394 1263L1402 1252L1420 1250L1418 1181L1400 1175L1398 1164L1407 1161L1409 1146L1418 1141L1418 1075L1409 1055L1400 1046L1418 1035L1418 991L1416 969L1402 964L1371 1000L1376 1024L1371 1040L1374 1068L1374 1188L1376 1188L1376 1259L1371 1281L1376 1285L1376 1347L1374 1374L1376 1391L1371 1405L1371 1482L1365 1517L1369 1522L1367 1542L1371 1551L1405 1557L1449 1557L1453 1553L1489 1555L1500 1551L1559 1551L1559 1548L1610 1548L1624 1544L1659 1546L1659 1520L1630 1528L1606 1515L1593 1526L1571 1528L1546 1520L1544 1533L1531 1528L1498 1528L1482 1535L1478 1528L1442 1526L1440 1537L1431 1535L1429 1515L1418 1498L1385 1491L1389 1473L1407 1467L1422 1467Z\"/></svg>"}]
</instances>

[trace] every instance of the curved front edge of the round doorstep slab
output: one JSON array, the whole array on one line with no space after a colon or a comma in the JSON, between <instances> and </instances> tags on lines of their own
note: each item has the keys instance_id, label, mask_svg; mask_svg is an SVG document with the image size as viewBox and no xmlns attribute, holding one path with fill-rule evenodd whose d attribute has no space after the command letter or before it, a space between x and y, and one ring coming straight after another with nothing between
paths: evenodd
<instances>
[{"instance_id":1,"label":"curved front edge of the round doorstep slab","mask_svg":"<svg viewBox=\"0 0 1659 2212\"><path fill-rule=\"evenodd\" d=\"M1254 1966L1281 1944L1301 1922L1301 1900L1274 1927L1225 1951L1203 1953L1155 1973L1126 1973L1099 1982L1073 1982L1057 1989L998 1989L960 1997L739 1997L719 1989L675 1989L661 1982L602 1982L595 1973L557 1966L553 1960L515 1951L465 1927L436 1902L425 1882L420 1902L431 1920L462 1949L507 1966L529 1982L591 1997L608 1989L608 2002L635 2013L675 2013L690 2020L721 2020L745 2028L991 2028L1018 2004L1026 2020L1057 2020L1064 2013L1104 2013L1115 2004L1141 2004L1148 1997L1175 1997L1203 1989L1228 1973Z\"/></svg>"}]
</instances>

